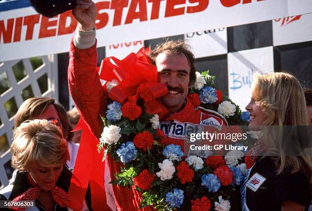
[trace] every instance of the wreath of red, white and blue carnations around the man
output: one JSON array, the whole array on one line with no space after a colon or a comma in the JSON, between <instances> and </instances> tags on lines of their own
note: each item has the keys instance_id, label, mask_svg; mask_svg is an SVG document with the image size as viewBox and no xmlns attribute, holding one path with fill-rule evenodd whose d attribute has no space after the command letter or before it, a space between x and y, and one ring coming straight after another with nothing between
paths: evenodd
<instances>
[{"instance_id":1,"label":"wreath of red, white and blue carnations around the man","mask_svg":"<svg viewBox=\"0 0 312 211\"><path fill-rule=\"evenodd\" d=\"M133 54L132 60L136 60L136 57L139 58L137 63L146 62L144 56L140 57L142 52L143 49L137 55ZM124 60L128 60L128 57ZM109 60L106 62L111 65L112 61ZM118 66L117 70L122 69L123 60L113 58L113 61ZM102 64L100 76L101 73L105 75L103 66L105 64ZM116 74L116 68L111 70ZM132 74L128 76L139 77ZM104 86L110 98L106 117L102 117L105 127L98 149L104 148L105 154L109 153L116 162L124 164L112 183L136 186L142 193L141 207L151 205L160 210L229 210L230 194L241 184L247 171L243 163L244 152L232 150L225 156L209 156L205 160L192 155L184 160L180 146L166 146L162 142L166 137L159 129L159 115L152 114L151 109L147 108L151 101L157 103L155 93L159 92L145 86L146 82L137 80L136 91L129 91L131 97L123 101L126 97L117 99L112 92L120 94L120 86L124 86L125 82L114 76L104 79L108 81ZM241 112L238 105L216 90L214 80L215 77L209 75L209 71L196 72L196 82L188 95L194 107L201 106L219 112L229 125L248 125L249 114ZM157 77L154 77L153 82L157 83ZM166 91L158 96L164 94ZM152 110L154 113L158 111L155 108Z\"/></svg>"}]
</instances>

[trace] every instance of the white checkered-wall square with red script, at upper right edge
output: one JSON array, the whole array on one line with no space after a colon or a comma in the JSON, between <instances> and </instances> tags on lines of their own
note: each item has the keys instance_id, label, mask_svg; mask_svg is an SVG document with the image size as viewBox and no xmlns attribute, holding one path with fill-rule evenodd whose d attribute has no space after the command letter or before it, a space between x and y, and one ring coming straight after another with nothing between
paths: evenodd
<instances>
[{"instance_id":1,"label":"white checkered-wall square with red script, at upper right edge","mask_svg":"<svg viewBox=\"0 0 312 211\"><path fill-rule=\"evenodd\" d=\"M312 13L272 21L274 46L312 40Z\"/></svg>"}]
</instances>

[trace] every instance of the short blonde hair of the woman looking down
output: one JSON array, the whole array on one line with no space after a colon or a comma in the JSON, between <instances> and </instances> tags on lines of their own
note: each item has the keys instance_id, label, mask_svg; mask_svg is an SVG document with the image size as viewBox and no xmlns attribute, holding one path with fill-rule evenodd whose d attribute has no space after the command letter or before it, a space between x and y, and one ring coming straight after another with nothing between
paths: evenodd
<instances>
[{"instance_id":1,"label":"short blonde hair of the woman looking down","mask_svg":"<svg viewBox=\"0 0 312 211\"><path fill-rule=\"evenodd\" d=\"M12 166L20 171L32 164L60 166L69 158L67 141L62 131L47 120L28 120L20 124L11 145Z\"/></svg>"}]
</instances>

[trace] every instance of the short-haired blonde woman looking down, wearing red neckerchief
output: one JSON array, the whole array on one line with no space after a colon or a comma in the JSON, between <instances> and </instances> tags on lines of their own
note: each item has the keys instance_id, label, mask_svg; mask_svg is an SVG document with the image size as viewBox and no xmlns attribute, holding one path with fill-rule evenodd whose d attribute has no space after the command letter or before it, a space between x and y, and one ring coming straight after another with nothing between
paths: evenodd
<instances>
[{"instance_id":1,"label":"short-haired blonde woman looking down, wearing red neckerchief","mask_svg":"<svg viewBox=\"0 0 312 211\"><path fill-rule=\"evenodd\" d=\"M11 152L18 171L0 200L34 200L31 210L68 210L71 173L64 166L69 153L62 131L47 120L24 122L14 131Z\"/></svg>"}]
</instances>

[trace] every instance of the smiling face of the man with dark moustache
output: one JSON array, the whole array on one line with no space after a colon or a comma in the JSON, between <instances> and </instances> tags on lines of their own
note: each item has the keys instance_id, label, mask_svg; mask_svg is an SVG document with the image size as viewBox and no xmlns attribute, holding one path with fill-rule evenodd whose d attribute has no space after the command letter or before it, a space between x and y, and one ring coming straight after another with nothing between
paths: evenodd
<instances>
[{"instance_id":1,"label":"smiling face of the man with dark moustache","mask_svg":"<svg viewBox=\"0 0 312 211\"><path fill-rule=\"evenodd\" d=\"M168 94L161 98L165 107L178 112L184 107L190 86L190 64L184 54L162 52L155 60L158 82L166 84Z\"/></svg>"}]
</instances>

